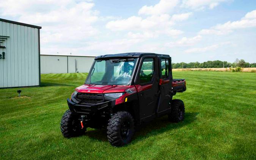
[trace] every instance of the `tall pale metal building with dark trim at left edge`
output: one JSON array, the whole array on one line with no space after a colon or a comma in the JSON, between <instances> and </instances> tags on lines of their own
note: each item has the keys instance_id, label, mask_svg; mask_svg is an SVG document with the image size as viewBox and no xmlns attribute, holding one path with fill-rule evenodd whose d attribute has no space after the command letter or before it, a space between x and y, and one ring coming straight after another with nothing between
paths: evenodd
<instances>
[{"instance_id":1,"label":"tall pale metal building with dark trim at left edge","mask_svg":"<svg viewBox=\"0 0 256 160\"><path fill-rule=\"evenodd\" d=\"M40 29L0 19L0 88L40 85Z\"/></svg>"}]
</instances>

